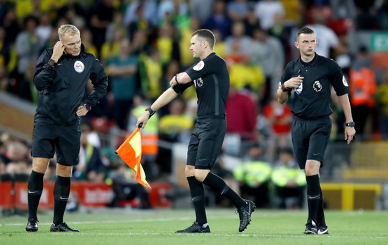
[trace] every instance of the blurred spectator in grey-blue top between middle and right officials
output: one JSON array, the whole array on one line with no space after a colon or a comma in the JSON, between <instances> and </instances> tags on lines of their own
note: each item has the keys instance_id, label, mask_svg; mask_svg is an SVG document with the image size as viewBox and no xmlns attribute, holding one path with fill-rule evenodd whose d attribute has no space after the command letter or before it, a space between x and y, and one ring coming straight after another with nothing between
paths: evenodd
<instances>
[{"instance_id":1,"label":"blurred spectator in grey-blue top between middle and right officials","mask_svg":"<svg viewBox=\"0 0 388 245\"><path fill-rule=\"evenodd\" d=\"M253 44L249 48L253 64L260 65L265 73L265 86L262 89L260 103L266 105L275 95L276 89L274 88L277 87L283 71L284 50L279 39L269 36L262 29L253 31Z\"/></svg>"}]
</instances>

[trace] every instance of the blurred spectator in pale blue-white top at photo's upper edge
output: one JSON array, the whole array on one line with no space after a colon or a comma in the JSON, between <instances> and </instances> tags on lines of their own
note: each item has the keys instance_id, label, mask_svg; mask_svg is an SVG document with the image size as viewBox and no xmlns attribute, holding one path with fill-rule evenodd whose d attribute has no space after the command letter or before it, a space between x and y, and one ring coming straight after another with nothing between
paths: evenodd
<instances>
[{"instance_id":1,"label":"blurred spectator in pale blue-white top at photo's upper edge","mask_svg":"<svg viewBox=\"0 0 388 245\"><path fill-rule=\"evenodd\" d=\"M255 14L260 20L262 30L268 30L272 27L276 13L284 15L284 6L278 0L262 0L255 5Z\"/></svg>"}]
</instances>

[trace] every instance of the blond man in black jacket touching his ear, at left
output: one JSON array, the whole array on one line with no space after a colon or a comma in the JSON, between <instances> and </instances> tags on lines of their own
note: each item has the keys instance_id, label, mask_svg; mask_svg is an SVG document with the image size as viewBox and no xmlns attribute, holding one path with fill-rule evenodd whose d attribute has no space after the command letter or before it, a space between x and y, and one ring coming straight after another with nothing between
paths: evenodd
<instances>
[{"instance_id":1,"label":"blond man in black jacket touching his ear, at left","mask_svg":"<svg viewBox=\"0 0 388 245\"><path fill-rule=\"evenodd\" d=\"M32 132L32 172L28 180L28 224L25 230L36 232L37 207L43 190L43 176L49 158L56 153L54 219L51 232L78 232L63 222L70 194L73 165L80 152L80 120L107 93L108 77L101 63L86 53L80 31L74 25L62 25L54 49L43 51L35 67L34 84L39 101ZM88 80L92 93L83 101Z\"/></svg>"}]
</instances>

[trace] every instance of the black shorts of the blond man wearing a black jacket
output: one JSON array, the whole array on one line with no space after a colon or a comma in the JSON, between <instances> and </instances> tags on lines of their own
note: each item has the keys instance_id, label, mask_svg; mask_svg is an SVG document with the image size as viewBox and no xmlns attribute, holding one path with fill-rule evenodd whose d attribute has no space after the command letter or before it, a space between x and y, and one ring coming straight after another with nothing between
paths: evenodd
<instances>
[{"instance_id":1,"label":"black shorts of the blond man wearing a black jacket","mask_svg":"<svg viewBox=\"0 0 388 245\"><path fill-rule=\"evenodd\" d=\"M53 158L61 165L77 165L80 153L81 130L79 123L74 125L51 125L38 122L32 132L31 156Z\"/></svg>"}]
</instances>

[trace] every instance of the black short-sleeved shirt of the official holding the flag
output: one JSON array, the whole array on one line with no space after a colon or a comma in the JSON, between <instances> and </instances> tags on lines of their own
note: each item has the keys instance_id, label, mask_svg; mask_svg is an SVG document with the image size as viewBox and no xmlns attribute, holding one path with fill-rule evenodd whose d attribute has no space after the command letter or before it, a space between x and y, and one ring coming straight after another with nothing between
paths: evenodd
<instances>
[{"instance_id":1,"label":"black short-sleeved shirt of the official holding the flag","mask_svg":"<svg viewBox=\"0 0 388 245\"><path fill-rule=\"evenodd\" d=\"M230 83L224 59L212 53L188 68L186 73L193 82L175 86L174 91L181 94L194 84L198 98L198 118L224 117Z\"/></svg>"}]
</instances>

